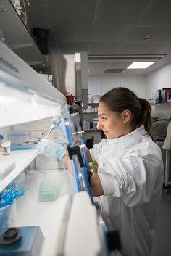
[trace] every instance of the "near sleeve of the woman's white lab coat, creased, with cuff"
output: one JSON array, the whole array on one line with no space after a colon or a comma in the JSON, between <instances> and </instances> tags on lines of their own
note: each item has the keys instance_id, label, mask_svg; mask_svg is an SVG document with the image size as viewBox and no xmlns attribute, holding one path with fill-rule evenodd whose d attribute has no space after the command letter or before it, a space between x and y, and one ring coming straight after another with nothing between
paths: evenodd
<instances>
[{"instance_id":1,"label":"near sleeve of the woman's white lab coat, creased, with cuff","mask_svg":"<svg viewBox=\"0 0 171 256\"><path fill-rule=\"evenodd\" d=\"M131 207L149 202L159 170L163 170L161 159L161 152L155 155L141 148L130 150L121 159L104 160L99 168L104 195L120 197Z\"/></svg>"}]
</instances>

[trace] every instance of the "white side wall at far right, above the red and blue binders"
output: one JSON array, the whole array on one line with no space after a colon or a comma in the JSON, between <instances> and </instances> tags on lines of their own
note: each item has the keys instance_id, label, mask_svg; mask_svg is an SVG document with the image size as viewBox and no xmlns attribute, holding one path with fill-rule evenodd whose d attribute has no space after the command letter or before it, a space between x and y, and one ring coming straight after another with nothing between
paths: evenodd
<instances>
[{"instance_id":1,"label":"white side wall at far right, above the red and blue binders","mask_svg":"<svg viewBox=\"0 0 171 256\"><path fill-rule=\"evenodd\" d=\"M154 98L157 89L171 88L171 63L147 75L146 99Z\"/></svg>"}]
</instances>

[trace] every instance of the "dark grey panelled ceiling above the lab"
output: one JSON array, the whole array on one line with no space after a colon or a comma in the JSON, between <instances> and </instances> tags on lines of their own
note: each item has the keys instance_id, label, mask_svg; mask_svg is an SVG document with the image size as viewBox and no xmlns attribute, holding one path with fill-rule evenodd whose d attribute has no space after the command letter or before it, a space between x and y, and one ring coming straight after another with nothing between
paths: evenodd
<instances>
[{"instance_id":1,"label":"dark grey panelled ceiling above the lab","mask_svg":"<svg viewBox=\"0 0 171 256\"><path fill-rule=\"evenodd\" d=\"M171 62L170 0L29 2L29 28L49 30L51 54L87 51L89 75L146 75ZM162 57L144 70L126 69L151 55Z\"/></svg>"}]
</instances>

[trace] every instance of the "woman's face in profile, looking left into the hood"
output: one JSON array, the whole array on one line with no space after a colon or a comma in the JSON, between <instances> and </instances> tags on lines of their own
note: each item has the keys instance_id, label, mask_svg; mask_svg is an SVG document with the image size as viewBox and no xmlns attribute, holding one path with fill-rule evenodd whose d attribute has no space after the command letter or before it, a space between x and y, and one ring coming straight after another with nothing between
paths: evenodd
<instances>
[{"instance_id":1,"label":"woman's face in profile, looking left into the hood","mask_svg":"<svg viewBox=\"0 0 171 256\"><path fill-rule=\"evenodd\" d=\"M97 128L104 132L107 139L115 139L124 136L125 134L130 133L130 127L128 127L130 116L127 114L130 113L113 112L109 110L104 102L100 102L98 107L99 121L97 123Z\"/></svg>"}]
</instances>

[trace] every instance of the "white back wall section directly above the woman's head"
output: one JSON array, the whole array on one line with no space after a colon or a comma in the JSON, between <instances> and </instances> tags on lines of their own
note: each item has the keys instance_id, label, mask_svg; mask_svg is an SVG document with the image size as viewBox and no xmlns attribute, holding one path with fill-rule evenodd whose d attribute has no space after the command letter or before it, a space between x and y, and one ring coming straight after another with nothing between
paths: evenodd
<instances>
[{"instance_id":1,"label":"white back wall section directly above the woman's head","mask_svg":"<svg viewBox=\"0 0 171 256\"><path fill-rule=\"evenodd\" d=\"M143 76L90 76L88 78L88 93L91 96L103 95L115 87L126 87L141 98L146 96L146 78Z\"/></svg>"}]
</instances>

